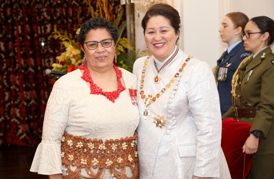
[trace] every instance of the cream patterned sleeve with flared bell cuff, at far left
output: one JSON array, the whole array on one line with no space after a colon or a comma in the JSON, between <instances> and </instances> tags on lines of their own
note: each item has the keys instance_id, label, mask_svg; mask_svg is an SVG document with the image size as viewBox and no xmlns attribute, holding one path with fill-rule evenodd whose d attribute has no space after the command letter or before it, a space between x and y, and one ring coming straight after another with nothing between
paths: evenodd
<instances>
[{"instance_id":1,"label":"cream patterned sleeve with flared bell cuff, at far left","mask_svg":"<svg viewBox=\"0 0 274 179\"><path fill-rule=\"evenodd\" d=\"M61 140L67 126L70 97L65 86L58 81L55 82L48 99L42 142L37 147L30 169L38 174L62 173Z\"/></svg>"}]
</instances>

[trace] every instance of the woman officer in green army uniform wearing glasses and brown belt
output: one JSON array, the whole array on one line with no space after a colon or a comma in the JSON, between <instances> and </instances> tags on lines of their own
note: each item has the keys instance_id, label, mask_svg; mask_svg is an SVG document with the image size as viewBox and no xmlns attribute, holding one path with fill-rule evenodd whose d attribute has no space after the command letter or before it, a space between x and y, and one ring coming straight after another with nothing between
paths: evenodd
<instances>
[{"instance_id":1,"label":"woman officer in green army uniform wearing glasses and brown belt","mask_svg":"<svg viewBox=\"0 0 274 179\"><path fill-rule=\"evenodd\" d=\"M252 124L243 152L254 154L248 179L274 178L274 21L252 18L243 33L244 59L232 77L232 107L222 116ZM259 143L259 138L261 142Z\"/></svg>"}]
</instances>

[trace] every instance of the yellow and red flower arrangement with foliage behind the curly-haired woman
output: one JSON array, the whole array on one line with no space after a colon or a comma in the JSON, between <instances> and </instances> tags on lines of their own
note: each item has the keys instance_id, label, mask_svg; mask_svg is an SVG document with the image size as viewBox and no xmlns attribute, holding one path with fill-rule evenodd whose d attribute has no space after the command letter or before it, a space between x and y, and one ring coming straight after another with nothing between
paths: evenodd
<instances>
[{"instance_id":1,"label":"yellow and red flower arrangement with foliage behind the curly-haired woman","mask_svg":"<svg viewBox=\"0 0 274 179\"><path fill-rule=\"evenodd\" d=\"M134 48L130 45L130 42L127 38L121 37L125 29L126 22L122 21L123 16L123 7L119 5L117 10L117 16L113 14L113 3L110 3L107 0L97 0L96 10L91 5L91 0L85 0L91 9L91 18L95 16L104 17L113 22L113 25L118 30L118 40L116 46L117 54L117 66L122 67L128 71L132 71L133 63L136 59L136 54ZM77 30L76 34L80 31L80 28ZM67 32L55 30L53 33L53 38L60 39L63 46L64 52L56 57L58 63L52 64L52 71L62 71L62 72L71 72L75 68L79 67L82 63L82 58L84 53L81 50L81 46L76 42L72 37L69 37ZM128 54L126 49L130 49L133 53Z\"/></svg>"}]
</instances>

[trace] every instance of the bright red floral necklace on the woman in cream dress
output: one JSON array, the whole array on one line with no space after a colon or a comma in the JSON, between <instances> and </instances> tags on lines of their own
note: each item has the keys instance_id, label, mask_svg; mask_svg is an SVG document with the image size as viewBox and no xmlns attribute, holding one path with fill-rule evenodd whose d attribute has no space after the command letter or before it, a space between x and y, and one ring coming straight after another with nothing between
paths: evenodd
<instances>
[{"instance_id":1,"label":"bright red floral necklace on the woman in cream dress","mask_svg":"<svg viewBox=\"0 0 274 179\"><path fill-rule=\"evenodd\" d=\"M103 91L102 88L100 88L99 86L97 86L97 84L94 83L89 73L89 70L87 69L86 64L84 66L80 65L79 69L84 70L81 78L85 80L86 82L90 83L90 94L104 95L107 99L109 99L110 101L114 103L115 102L114 100L117 99L120 93L125 90L125 87L122 85L122 82L121 82L122 71L118 67L116 67L114 64L113 64L113 67L115 69L116 76L117 76L118 90L111 91L111 92Z\"/></svg>"}]
</instances>

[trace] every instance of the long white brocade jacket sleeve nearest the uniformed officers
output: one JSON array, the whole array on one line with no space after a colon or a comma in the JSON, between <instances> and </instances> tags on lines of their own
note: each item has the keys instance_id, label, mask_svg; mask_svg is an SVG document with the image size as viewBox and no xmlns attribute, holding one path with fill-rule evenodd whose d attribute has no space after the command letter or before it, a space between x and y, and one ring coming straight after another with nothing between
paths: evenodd
<instances>
[{"instance_id":1,"label":"long white brocade jacket sleeve nearest the uniformed officers","mask_svg":"<svg viewBox=\"0 0 274 179\"><path fill-rule=\"evenodd\" d=\"M207 63L194 66L187 98L198 129L194 176L219 178L222 118L217 86Z\"/></svg>"}]
</instances>

